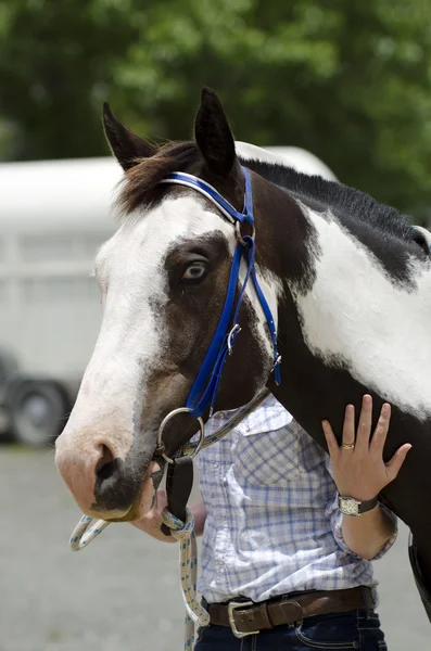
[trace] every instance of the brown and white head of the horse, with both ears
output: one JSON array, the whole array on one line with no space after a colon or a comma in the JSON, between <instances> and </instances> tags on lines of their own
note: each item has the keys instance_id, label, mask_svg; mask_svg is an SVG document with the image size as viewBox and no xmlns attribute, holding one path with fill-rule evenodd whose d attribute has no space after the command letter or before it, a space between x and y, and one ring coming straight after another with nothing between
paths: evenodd
<instances>
[{"instance_id":1,"label":"brown and white head of the horse, with both ears","mask_svg":"<svg viewBox=\"0 0 431 651\"><path fill-rule=\"evenodd\" d=\"M202 93L194 142L155 149L119 124L107 106L104 126L125 169L123 214L96 260L101 331L56 442L56 463L84 512L131 520L151 507L162 474L153 459L157 430L168 412L186 404L200 371L223 311L238 242L234 226L207 199L161 181L175 171L192 174L242 210L244 174L223 107L211 91ZM253 175L257 263L264 261L268 238L274 239L270 229L264 234L258 228L265 183ZM277 318L276 275L263 264L257 275ZM239 323L241 334L217 392L218 409L249 401L272 368L270 333L251 288ZM164 432L167 454L197 429L189 414L173 419Z\"/></svg>"}]
</instances>

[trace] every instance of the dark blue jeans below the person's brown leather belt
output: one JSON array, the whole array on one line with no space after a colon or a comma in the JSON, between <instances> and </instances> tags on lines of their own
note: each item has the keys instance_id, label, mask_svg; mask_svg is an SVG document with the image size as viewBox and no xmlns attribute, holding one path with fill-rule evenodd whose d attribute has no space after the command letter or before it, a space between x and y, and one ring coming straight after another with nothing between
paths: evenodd
<instances>
[{"instance_id":1,"label":"dark blue jeans below the person's brown leather belt","mask_svg":"<svg viewBox=\"0 0 431 651\"><path fill-rule=\"evenodd\" d=\"M198 640L195 651L388 651L379 615L372 611L306 617L242 639L226 626L211 625L199 630Z\"/></svg>"}]
</instances>

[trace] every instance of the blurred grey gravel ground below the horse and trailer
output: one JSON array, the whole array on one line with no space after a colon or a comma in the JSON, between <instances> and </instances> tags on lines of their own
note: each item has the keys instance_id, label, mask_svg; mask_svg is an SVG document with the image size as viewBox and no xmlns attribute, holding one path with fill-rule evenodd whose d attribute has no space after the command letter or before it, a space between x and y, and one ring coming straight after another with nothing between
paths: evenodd
<instances>
[{"instance_id":1,"label":"blurred grey gravel ground below the horse and trailer","mask_svg":"<svg viewBox=\"0 0 431 651\"><path fill-rule=\"evenodd\" d=\"M130 525L79 553L79 512L53 452L0 448L0 651L172 651L182 648L177 549ZM407 532L376 565L391 651L430 648L430 624L407 560Z\"/></svg>"}]
</instances>

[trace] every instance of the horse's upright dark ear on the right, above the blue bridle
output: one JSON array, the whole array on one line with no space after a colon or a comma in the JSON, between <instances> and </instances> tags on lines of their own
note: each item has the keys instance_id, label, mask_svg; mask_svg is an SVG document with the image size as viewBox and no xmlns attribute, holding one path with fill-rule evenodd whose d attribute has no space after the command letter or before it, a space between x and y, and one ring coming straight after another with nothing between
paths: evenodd
<instances>
[{"instance_id":1,"label":"horse's upright dark ear on the right, above the blue bridle","mask_svg":"<svg viewBox=\"0 0 431 651\"><path fill-rule=\"evenodd\" d=\"M194 137L210 169L227 177L237 158L234 140L221 102L208 88L202 90Z\"/></svg>"}]
</instances>

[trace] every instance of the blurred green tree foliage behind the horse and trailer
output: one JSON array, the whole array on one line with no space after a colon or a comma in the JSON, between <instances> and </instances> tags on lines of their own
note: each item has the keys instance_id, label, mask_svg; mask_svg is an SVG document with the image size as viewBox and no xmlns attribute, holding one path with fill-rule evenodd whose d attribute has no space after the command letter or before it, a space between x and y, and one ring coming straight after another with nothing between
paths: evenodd
<instances>
[{"instance_id":1,"label":"blurred green tree foliage behind the horse and trailer","mask_svg":"<svg viewBox=\"0 0 431 651\"><path fill-rule=\"evenodd\" d=\"M430 13L430 0L0 0L0 154L107 153L104 99L141 135L189 138L207 85L238 139L304 146L419 212Z\"/></svg>"}]
</instances>

